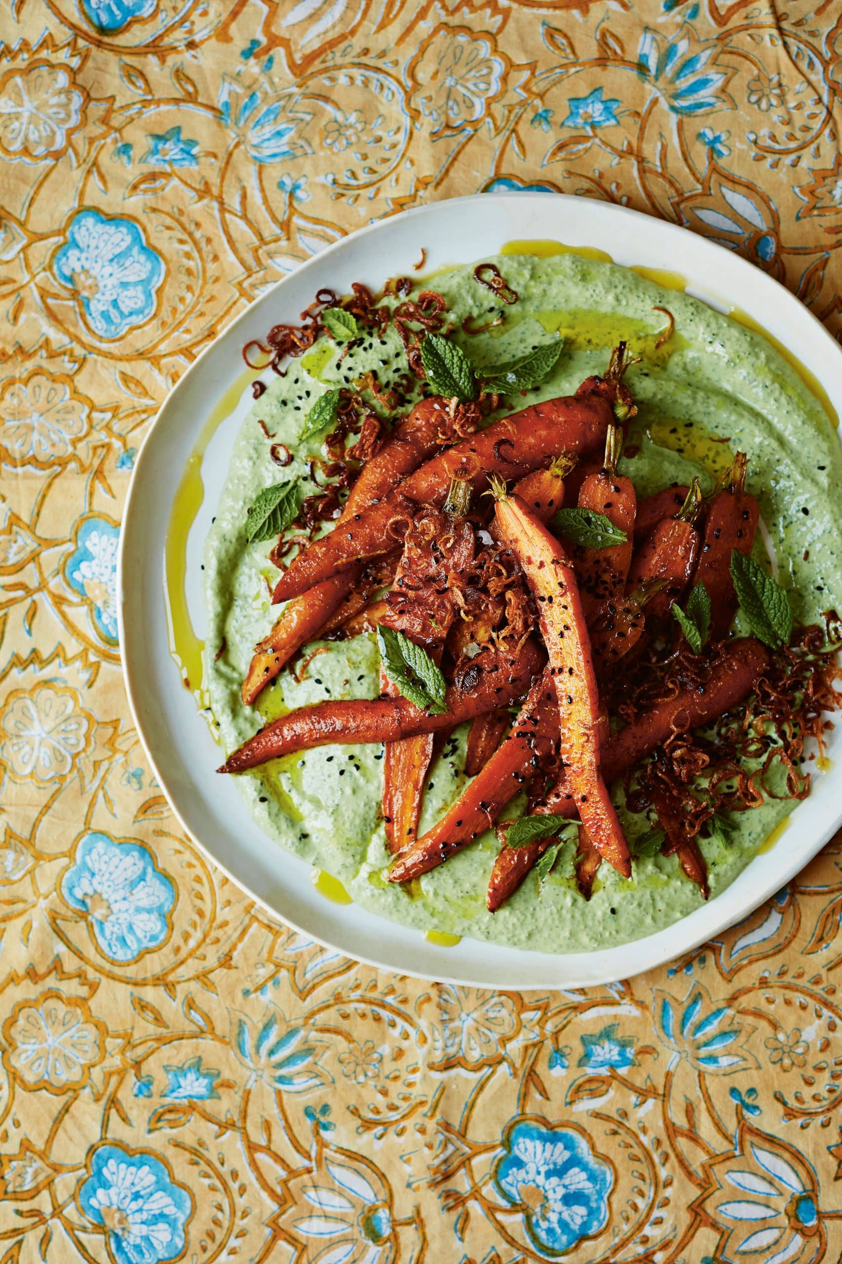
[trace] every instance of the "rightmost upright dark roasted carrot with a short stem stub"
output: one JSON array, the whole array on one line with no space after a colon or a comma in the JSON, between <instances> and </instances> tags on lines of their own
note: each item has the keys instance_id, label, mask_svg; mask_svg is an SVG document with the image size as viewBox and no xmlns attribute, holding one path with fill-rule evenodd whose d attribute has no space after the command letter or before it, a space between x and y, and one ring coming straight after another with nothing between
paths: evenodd
<instances>
[{"instance_id":1,"label":"rightmost upright dark roasted carrot with a short stem stub","mask_svg":"<svg viewBox=\"0 0 842 1264\"><path fill-rule=\"evenodd\" d=\"M726 487L716 493L708 508L694 584L704 584L711 598L711 636L727 636L737 613L737 594L731 579L731 554L751 554L757 531L759 508L746 492L748 458L737 453Z\"/></svg>"}]
</instances>

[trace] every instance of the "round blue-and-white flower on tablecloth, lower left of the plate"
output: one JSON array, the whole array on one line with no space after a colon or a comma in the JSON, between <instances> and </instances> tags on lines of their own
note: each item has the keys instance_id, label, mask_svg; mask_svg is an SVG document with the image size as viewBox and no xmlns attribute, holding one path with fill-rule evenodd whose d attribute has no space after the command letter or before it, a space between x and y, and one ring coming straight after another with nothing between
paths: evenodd
<instances>
[{"instance_id":1,"label":"round blue-and-white flower on tablecloth, lower left of the plate","mask_svg":"<svg viewBox=\"0 0 842 1264\"><path fill-rule=\"evenodd\" d=\"M137 961L167 938L176 889L139 843L85 834L61 890L64 902L87 916L100 952L111 961Z\"/></svg>"}]
</instances>

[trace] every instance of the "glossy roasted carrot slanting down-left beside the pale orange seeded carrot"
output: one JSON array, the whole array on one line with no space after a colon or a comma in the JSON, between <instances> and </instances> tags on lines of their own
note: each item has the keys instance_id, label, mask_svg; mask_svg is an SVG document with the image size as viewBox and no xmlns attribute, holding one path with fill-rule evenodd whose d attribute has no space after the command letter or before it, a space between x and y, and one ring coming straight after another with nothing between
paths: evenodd
<instances>
[{"instance_id":1,"label":"glossy roasted carrot slanting down-left beside the pale orange seeded carrot","mask_svg":"<svg viewBox=\"0 0 842 1264\"><path fill-rule=\"evenodd\" d=\"M523 789L558 731L558 699L547 669L534 681L508 737L441 820L398 858L389 882L427 873L488 829Z\"/></svg>"}]
</instances>

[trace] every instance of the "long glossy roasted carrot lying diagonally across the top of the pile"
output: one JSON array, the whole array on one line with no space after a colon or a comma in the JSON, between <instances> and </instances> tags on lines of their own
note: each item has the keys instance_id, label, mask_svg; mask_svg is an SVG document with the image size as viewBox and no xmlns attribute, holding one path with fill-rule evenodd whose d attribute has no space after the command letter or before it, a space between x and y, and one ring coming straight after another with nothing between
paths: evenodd
<instances>
[{"instance_id":1,"label":"long glossy roasted carrot lying diagonally across the top of the pile","mask_svg":"<svg viewBox=\"0 0 842 1264\"><path fill-rule=\"evenodd\" d=\"M475 492L484 490L491 473L507 480L522 478L559 451L577 456L602 446L612 418L606 399L587 394L547 399L492 422L426 461L359 518L343 514L330 535L315 540L281 576L274 600L296 597L336 571L393 547L398 523L411 518L418 504L440 508L454 478L470 482ZM388 485L396 482L392 478Z\"/></svg>"}]
</instances>

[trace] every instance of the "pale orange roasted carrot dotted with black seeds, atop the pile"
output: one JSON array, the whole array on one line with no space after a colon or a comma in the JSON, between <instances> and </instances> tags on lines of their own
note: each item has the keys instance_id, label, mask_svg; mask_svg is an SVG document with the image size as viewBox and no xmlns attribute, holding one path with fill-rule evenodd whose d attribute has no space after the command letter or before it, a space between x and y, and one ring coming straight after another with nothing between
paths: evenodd
<instances>
[{"instance_id":1,"label":"pale orange roasted carrot dotted with black seeds, atop the pile","mask_svg":"<svg viewBox=\"0 0 842 1264\"><path fill-rule=\"evenodd\" d=\"M496 494L497 530L516 552L539 607L559 699L559 751L569 791L597 851L628 877L628 846L599 767L599 698L575 573L559 541L518 497L506 495L504 489Z\"/></svg>"}]
</instances>

